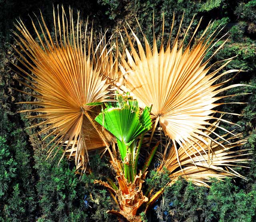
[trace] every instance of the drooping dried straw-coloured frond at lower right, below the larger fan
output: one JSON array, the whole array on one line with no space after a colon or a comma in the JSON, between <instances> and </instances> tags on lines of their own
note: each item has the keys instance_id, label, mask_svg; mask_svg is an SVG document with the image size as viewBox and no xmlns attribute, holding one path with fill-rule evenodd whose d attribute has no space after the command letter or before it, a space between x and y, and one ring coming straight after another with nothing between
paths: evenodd
<instances>
[{"instance_id":1,"label":"drooping dried straw-coloured frond at lower right, below the larger fan","mask_svg":"<svg viewBox=\"0 0 256 222\"><path fill-rule=\"evenodd\" d=\"M218 122L214 123L218 125ZM210 131L214 131L216 127L210 127L207 134ZM229 134L223 135L222 137L226 138ZM240 177L232 167L238 167L239 163L247 163L248 158L246 155L249 155L248 150L238 150L231 151L230 149L234 147L242 146L246 143L246 139L237 140L241 137L242 134L231 136L226 139L229 143L222 140L219 143L211 141L207 137L203 137L202 140L208 141L208 145L202 142L201 139L195 139L191 145L188 145L188 149L179 149L178 155L180 159L180 165L177 162L175 148L172 146L170 151L164 159L162 166L158 169L159 171L164 172L165 169L168 170L171 183L176 182L179 176L182 176L188 181L198 186L209 187L207 182L211 182L212 178L222 179L227 176L229 177ZM232 140L236 140L232 142ZM226 144L225 144L226 143ZM244 165L239 167L245 167Z\"/></svg>"}]
</instances>

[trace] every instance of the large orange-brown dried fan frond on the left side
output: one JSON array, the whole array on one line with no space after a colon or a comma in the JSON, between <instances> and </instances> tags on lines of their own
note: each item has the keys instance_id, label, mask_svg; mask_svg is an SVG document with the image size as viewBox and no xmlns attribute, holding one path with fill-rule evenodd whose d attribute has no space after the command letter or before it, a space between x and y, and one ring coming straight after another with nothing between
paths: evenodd
<instances>
[{"instance_id":1,"label":"large orange-brown dried fan frond on the left side","mask_svg":"<svg viewBox=\"0 0 256 222\"><path fill-rule=\"evenodd\" d=\"M106 83L105 77L108 73L104 72L105 69L102 69L104 64L98 60L105 59L103 56L108 56L112 48L107 50L106 44L104 48L101 47L103 36L94 50L92 31L87 39L87 23L83 33L79 13L76 24L71 9L69 19L63 7L62 12L58 10L56 16L54 11L53 15L55 38L51 37L42 14L41 21L38 19L40 30L32 20L36 33L34 37L21 20L16 25L20 32L20 34L14 32L16 43L25 54L16 50L21 57L18 60L25 68L17 67L28 77L24 78L31 85L23 84L37 93L32 95L24 92L36 97L37 101L23 103L41 107L22 112L40 112L42 114L31 118L46 119L36 126L46 125L46 128L40 131L40 133L51 131L46 138L54 135L50 141L53 145L48 151L48 157L57 146L59 150L65 145L62 158L66 152L70 152L70 157L75 152L76 165L84 167L88 158L87 150L106 146L110 142L109 134L104 135L106 131L95 129L97 124L93 121L92 109L96 103L107 101L108 98L109 84ZM38 38L39 43L35 38ZM96 53L99 54L97 60L95 60ZM29 70L32 74L25 70Z\"/></svg>"}]
</instances>

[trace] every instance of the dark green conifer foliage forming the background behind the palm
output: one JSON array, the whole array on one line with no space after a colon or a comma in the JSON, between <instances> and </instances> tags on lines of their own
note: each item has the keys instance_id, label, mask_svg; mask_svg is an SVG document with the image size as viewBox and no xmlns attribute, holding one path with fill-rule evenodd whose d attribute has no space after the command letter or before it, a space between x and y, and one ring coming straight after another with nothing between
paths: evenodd
<instances>
[{"instance_id":1,"label":"dark green conifer foliage forming the background behind the palm","mask_svg":"<svg viewBox=\"0 0 256 222\"><path fill-rule=\"evenodd\" d=\"M0 0L0 222L80 222L115 221L106 210L115 208L112 198L103 187L93 184L94 179L103 179L108 170L108 160L91 156L90 175L75 174L74 163L58 157L45 160L46 151L33 129L25 129L33 122L16 113L24 106L16 102L29 100L13 88L24 89L12 71L11 62L16 63L11 35L13 22L19 17L31 29L29 16L44 15L52 27L52 5L71 6L80 10L82 20L94 21L98 30L108 33L123 30L127 21L140 33L135 17L147 36L152 36L152 16L158 42L161 40L162 13L165 15L166 35L176 13L180 21L185 11L183 26L186 28L193 15L194 28L203 16L202 28L210 20L225 25L221 34L229 32L229 40L213 61L237 57L226 69L244 69L246 72L233 79L234 83L246 83L252 87L230 90L229 94L252 93L227 99L226 102L242 101L244 105L222 106L222 111L242 113L242 117L226 115L226 119L241 127L225 126L229 130L243 132L248 138L246 149L252 149L250 168L237 170L248 180L234 179L215 181L210 189L197 187L179 180L166 189L156 202L148 221L172 222L254 222L256 221L256 0ZM178 24L178 23L177 23ZM177 27L177 26L175 26ZM140 34L139 34L140 35ZM221 44L221 42L219 43ZM14 46L15 47L15 46ZM61 154L59 153L58 156ZM160 186L163 176L154 171L154 184ZM157 181L158 179L159 181ZM148 184L152 182L150 177Z\"/></svg>"}]
</instances>

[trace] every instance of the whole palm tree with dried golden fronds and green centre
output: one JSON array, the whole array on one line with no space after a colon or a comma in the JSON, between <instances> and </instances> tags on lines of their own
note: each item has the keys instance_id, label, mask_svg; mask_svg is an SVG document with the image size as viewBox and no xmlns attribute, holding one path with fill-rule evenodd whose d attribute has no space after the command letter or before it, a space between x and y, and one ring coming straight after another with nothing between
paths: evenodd
<instances>
[{"instance_id":1,"label":"whole palm tree with dried golden fronds and green centre","mask_svg":"<svg viewBox=\"0 0 256 222\"><path fill-rule=\"evenodd\" d=\"M108 182L95 182L108 188L120 208L109 213L117 215L120 221L141 221L139 213L146 212L159 198L164 187L155 193L154 190L146 193L142 190L156 152L161 161L158 172L167 171L170 177L166 186L175 183L179 176L199 186L209 186L212 177L220 180L226 176L244 178L232 167L246 163L244 155L248 153L231 149L243 145L246 140L239 139L241 134L235 135L221 127L221 121L230 121L223 119L225 113L214 109L224 104L215 103L225 97L216 95L242 86L223 87L230 79L221 83L216 81L240 70L218 74L232 58L207 67L227 41L204 61L219 41L214 43L219 28L214 30L213 23L192 45L199 22L184 46L193 19L179 41L181 22L172 46L170 34L166 48L162 38L159 49L155 36L151 48L144 34L143 47L129 26L138 49L125 29L128 45L121 35L124 52L120 53L117 42L108 44L105 35L99 35L98 44L92 30L87 36L87 23L85 34L82 33L79 15L75 24L71 9L69 16L63 8L61 14L58 10L57 16L54 12L53 19L55 39L42 15L39 24L43 37L32 21L39 41L34 40L21 21L16 25L20 32L14 33L20 46L16 51L25 68L17 67L30 83L23 84L36 92L35 95L23 93L37 99L23 103L41 107L22 112L42 113L29 118L45 119L37 125L46 125L39 133L50 132L46 138L53 137L48 157L54 156L52 152L56 148L58 151L64 147L62 157L74 157L76 167L85 171L88 151L100 148L108 151L116 182L110 178ZM173 27L174 17L171 31ZM112 52L113 47L116 52ZM222 65L215 68L221 62ZM117 92L113 93L113 90ZM226 134L219 135L218 128ZM159 145L164 147L162 152ZM149 155L144 166L138 169L142 149L147 149Z\"/></svg>"}]
</instances>

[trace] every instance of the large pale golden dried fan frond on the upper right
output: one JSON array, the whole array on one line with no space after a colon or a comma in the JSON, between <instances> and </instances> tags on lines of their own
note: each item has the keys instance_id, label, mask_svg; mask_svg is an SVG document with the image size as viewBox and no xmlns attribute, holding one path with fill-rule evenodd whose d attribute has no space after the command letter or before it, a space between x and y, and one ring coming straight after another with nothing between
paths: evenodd
<instances>
[{"instance_id":1,"label":"large pale golden dried fan frond on the upper right","mask_svg":"<svg viewBox=\"0 0 256 222\"><path fill-rule=\"evenodd\" d=\"M166 49L164 50L164 40L162 39L159 52L155 36L153 38L153 47L150 48L150 44L143 34L144 50L142 43L130 28L138 46L137 51L125 29L131 52L129 52L126 47L127 60L121 55L121 70L123 71L125 79L123 90L130 91L131 95L133 95L135 99L138 99L140 107L143 108L153 105L151 113L155 118L155 125L152 131L154 132L159 122L164 133L170 137L174 144L178 162L179 156L176 143L178 143L181 149L186 150L187 146L190 146L195 139L199 139L206 144L208 142L202 140L203 137L215 141L211 137L208 137L205 131L209 130L206 125L211 125L211 123L209 123L210 119L218 119L213 117L213 114L221 113L213 110L215 107L223 104L215 103L223 98L216 97L216 95L232 87L242 86L242 84L236 84L222 87L225 83L230 81L230 79L222 83L215 83L223 75L240 71L231 69L217 75L223 67L232 61L232 58L223 60L222 62L224 64L218 66L214 71L210 72L220 61L206 67L210 59L214 57L227 40L223 41L210 58L203 62L206 54L219 41L212 44L218 30L218 28L213 30L213 23L208 24L204 32L198 40L196 40L196 43L191 47L194 36L200 25L200 20L188 45L184 48L184 40L190 30L192 22L193 19L180 42L180 46L178 46L178 36L180 35L182 21L172 48L170 34ZM174 17L171 33L173 26ZM222 119L222 121L225 120ZM216 133L214 134L217 135ZM219 135L217 136L220 137Z\"/></svg>"}]
</instances>

